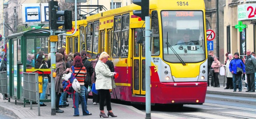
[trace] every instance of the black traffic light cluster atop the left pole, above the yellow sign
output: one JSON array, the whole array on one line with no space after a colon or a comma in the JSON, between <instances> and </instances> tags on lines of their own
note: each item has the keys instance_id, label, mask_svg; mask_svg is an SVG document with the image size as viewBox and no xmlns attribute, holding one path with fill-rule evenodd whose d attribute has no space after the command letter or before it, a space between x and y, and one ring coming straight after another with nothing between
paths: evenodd
<instances>
[{"instance_id":1,"label":"black traffic light cluster atop the left pole, above the yellow sign","mask_svg":"<svg viewBox=\"0 0 256 119\"><path fill-rule=\"evenodd\" d=\"M58 27L63 25L64 30L72 29L72 12L69 10L58 11L58 2L49 1L50 10L50 28L51 30L58 30ZM62 17L63 16L63 17ZM58 20L59 17L64 18L64 21Z\"/></svg>"}]
</instances>

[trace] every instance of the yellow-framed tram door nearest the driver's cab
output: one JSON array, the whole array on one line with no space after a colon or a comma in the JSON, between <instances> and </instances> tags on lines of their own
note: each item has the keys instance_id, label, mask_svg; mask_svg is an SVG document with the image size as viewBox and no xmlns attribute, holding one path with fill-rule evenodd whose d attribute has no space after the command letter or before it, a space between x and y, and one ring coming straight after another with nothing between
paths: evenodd
<instances>
[{"instance_id":1,"label":"yellow-framed tram door nearest the driver's cab","mask_svg":"<svg viewBox=\"0 0 256 119\"><path fill-rule=\"evenodd\" d=\"M145 41L142 44L138 44L136 41L136 29L132 29L133 36L133 55L132 55L132 71L133 71L133 95L145 95Z\"/></svg>"}]
</instances>

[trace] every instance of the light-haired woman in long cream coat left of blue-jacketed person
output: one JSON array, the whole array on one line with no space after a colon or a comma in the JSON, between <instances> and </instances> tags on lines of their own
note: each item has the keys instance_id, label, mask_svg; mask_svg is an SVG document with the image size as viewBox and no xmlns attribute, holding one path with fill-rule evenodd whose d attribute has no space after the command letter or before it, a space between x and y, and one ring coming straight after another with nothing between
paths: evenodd
<instances>
[{"instance_id":1,"label":"light-haired woman in long cream coat left of blue-jacketed person","mask_svg":"<svg viewBox=\"0 0 256 119\"><path fill-rule=\"evenodd\" d=\"M227 77L227 84L226 84L226 88L224 89L233 89L232 73L229 70L229 64L232 59L233 59L233 55L228 54L228 60L226 64L225 65L222 64L222 66L226 67L226 77Z\"/></svg>"}]
</instances>

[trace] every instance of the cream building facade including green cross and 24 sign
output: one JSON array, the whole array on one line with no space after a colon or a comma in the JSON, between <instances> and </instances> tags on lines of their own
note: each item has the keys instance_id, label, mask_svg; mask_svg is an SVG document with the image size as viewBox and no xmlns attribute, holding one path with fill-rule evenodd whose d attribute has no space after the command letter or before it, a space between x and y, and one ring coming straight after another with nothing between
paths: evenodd
<instances>
[{"instance_id":1,"label":"cream building facade including green cross and 24 sign","mask_svg":"<svg viewBox=\"0 0 256 119\"><path fill-rule=\"evenodd\" d=\"M226 0L224 4L224 50L246 55L255 49L255 0Z\"/></svg>"}]
</instances>

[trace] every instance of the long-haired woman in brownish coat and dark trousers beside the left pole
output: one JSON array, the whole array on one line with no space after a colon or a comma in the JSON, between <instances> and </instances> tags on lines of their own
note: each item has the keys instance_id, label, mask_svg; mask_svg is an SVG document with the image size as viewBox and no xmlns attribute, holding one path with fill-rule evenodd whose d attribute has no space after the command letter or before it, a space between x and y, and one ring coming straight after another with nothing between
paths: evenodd
<instances>
[{"instance_id":1,"label":"long-haired woman in brownish coat and dark trousers beside the left pole","mask_svg":"<svg viewBox=\"0 0 256 119\"><path fill-rule=\"evenodd\" d=\"M56 53L55 54L56 57L56 77L55 77L55 92L56 92L56 96L55 96L55 111L56 113L63 113L63 110L59 109L59 102L60 102L60 96L61 93L63 92L63 89L61 89L62 86L62 82L61 82L61 78L63 76L63 74L67 74L67 72L69 71L69 68L64 68L62 59L63 59L63 55L60 53Z\"/></svg>"}]
</instances>

